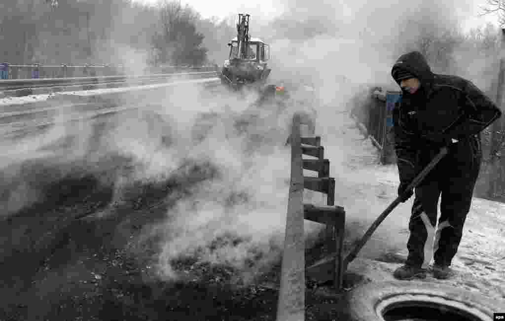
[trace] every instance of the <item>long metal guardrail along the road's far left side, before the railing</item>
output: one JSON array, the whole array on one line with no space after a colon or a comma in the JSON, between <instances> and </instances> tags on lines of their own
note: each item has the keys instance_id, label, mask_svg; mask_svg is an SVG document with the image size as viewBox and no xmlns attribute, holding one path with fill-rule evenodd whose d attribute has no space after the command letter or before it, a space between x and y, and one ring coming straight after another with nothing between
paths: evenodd
<instances>
[{"instance_id":1,"label":"long metal guardrail along the road's far left side, before the railing","mask_svg":"<svg viewBox=\"0 0 505 321\"><path fill-rule=\"evenodd\" d=\"M72 77L72 78L39 78L0 80L0 94L25 96L30 94L51 93L68 90L87 90L96 88L114 88L140 84L163 83L180 79L212 78L211 72L188 72L150 75Z\"/></svg>"}]
</instances>

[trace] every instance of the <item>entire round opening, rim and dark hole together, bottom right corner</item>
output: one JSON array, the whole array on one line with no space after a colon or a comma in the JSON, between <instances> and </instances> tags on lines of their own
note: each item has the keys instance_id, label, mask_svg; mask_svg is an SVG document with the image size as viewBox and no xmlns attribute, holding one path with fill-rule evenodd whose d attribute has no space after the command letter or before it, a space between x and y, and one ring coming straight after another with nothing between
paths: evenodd
<instances>
[{"instance_id":1,"label":"entire round opening, rim and dark hole together, bottom right corner","mask_svg":"<svg viewBox=\"0 0 505 321\"><path fill-rule=\"evenodd\" d=\"M478 321L505 311L505 301L430 282L371 282L348 292L346 301L352 321Z\"/></svg>"}]
</instances>

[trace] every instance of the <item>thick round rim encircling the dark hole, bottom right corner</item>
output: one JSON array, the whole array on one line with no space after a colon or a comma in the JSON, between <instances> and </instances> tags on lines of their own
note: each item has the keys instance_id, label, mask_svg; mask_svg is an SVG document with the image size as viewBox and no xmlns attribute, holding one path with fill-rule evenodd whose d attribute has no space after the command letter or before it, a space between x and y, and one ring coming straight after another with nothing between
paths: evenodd
<instances>
[{"instance_id":1,"label":"thick round rim encircling the dark hole, bottom right corner","mask_svg":"<svg viewBox=\"0 0 505 321\"><path fill-rule=\"evenodd\" d=\"M349 317L352 321L384 321L385 318L380 315L382 314L380 310L387 311L384 307L389 303L398 304L398 302L407 302L408 300L446 303L446 305L455 306L459 310L480 317L474 318L475 320L492 320L493 312L505 311L505 301L430 282L371 282L358 286L348 292L346 297ZM391 306L389 305L389 307ZM410 311L415 310L411 309ZM472 318L468 319L472 320Z\"/></svg>"}]
</instances>

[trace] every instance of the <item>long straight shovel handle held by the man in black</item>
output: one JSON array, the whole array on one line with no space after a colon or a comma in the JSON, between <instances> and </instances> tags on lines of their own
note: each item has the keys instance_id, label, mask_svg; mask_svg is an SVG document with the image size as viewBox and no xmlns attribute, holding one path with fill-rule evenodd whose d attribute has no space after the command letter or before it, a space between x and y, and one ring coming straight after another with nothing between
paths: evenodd
<instances>
[{"instance_id":1,"label":"long straight shovel handle held by the man in black","mask_svg":"<svg viewBox=\"0 0 505 321\"><path fill-rule=\"evenodd\" d=\"M442 147L440 149L440 152L432 159L430 164L424 168L421 173L419 173L416 178L410 183L410 185L407 187L407 190L403 192L402 195L399 195L396 197L396 199L389 204L389 206L382 212L382 214L375 220L375 222L372 224L372 226L368 229L368 231L365 233L365 235L361 238L361 240L358 242L356 247L352 249L347 256L345 257L343 261L343 271L347 270L347 265L356 258L358 255L358 252L363 248L365 243L370 239L372 234L375 232L375 230L379 227L379 225L384 221L384 219L389 215L389 213L401 202L401 199L405 196L407 196L407 193L412 191L419 183L428 175L429 172L435 167L435 165L440 162L440 159L442 159L448 152L447 147Z\"/></svg>"}]
</instances>

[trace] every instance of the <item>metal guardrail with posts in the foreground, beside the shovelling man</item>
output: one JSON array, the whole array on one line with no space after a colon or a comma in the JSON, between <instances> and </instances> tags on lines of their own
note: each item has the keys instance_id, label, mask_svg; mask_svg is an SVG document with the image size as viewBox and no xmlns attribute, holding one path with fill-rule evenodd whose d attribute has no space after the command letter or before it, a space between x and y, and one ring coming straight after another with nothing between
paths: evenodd
<instances>
[{"instance_id":1,"label":"metal guardrail with posts in the foreground, beside the shovelling man","mask_svg":"<svg viewBox=\"0 0 505 321\"><path fill-rule=\"evenodd\" d=\"M324 158L321 137L302 137L300 125L302 116L295 114L291 126L289 142L291 144L291 178L289 201L287 206L286 233L282 255L281 285L277 306L277 321L297 321L305 319L305 242L304 220L325 224L328 252L333 261L328 259L313 264L307 269L315 279L326 281L328 276L334 287L341 289L343 266L343 237L345 211L341 206L334 206L335 179L329 177L330 164ZM311 134L314 127L308 124ZM305 159L306 154L315 159ZM303 170L315 171L318 177L305 177ZM327 194L327 206L304 204L303 191L310 189ZM335 259L337 258L337 259ZM331 258L329 259L331 261ZM330 266L330 271L328 271ZM327 271L323 271L326 269Z\"/></svg>"}]
</instances>

